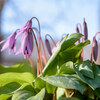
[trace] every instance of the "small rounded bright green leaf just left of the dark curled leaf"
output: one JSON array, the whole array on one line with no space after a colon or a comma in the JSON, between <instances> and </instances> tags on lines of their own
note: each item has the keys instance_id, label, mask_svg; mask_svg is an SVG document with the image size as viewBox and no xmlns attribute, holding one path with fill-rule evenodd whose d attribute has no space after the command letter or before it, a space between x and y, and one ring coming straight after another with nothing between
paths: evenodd
<instances>
[{"instance_id":1,"label":"small rounded bright green leaf just left of the dark curled leaf","mask_svg":"<svg viewBox=\"0 0 100 100\"><path fill-rule=\"evenodd\" d=\"M74 73L75 73L75 71L73 69L72 61L68 61L68 62L64 63L59 69L59 74L74 74Z\"/></svg>"}]
</instances>

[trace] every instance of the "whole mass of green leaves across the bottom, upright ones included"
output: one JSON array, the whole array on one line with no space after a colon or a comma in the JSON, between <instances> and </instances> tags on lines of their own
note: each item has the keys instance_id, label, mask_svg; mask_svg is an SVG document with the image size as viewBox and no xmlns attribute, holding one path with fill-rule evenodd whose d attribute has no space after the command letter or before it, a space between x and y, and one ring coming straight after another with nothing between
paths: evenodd
<instances>
[{"instance_id":1,"label":"whole mass of green leaves across the bottom, upright ones included","mask_svg":"<svg viewBox=\"0 0 100 100\"><path fill-rule=\"evenodd\" d=\"M89 40L76 45L83 35L74 33L59 43L43 69L43 77L26 64L0 65L0 100L92 100L100 98L100 65L80 62ZM69 98L65 96L67 89Z\"/></svg>"}]
</instances>

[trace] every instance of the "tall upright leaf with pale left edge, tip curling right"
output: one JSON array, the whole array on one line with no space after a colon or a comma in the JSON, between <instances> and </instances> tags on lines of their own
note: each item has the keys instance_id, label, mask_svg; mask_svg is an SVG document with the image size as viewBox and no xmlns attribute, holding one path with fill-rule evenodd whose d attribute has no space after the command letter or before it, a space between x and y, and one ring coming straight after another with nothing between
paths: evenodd
<instances>
[{"instance_id":1,"label":"tall upright leaf with pale left edge, tip curling right","mask_svg":"<svg viewBox=\"0 0 100 100\"><path fill-rule=\"evenodd\" d=\"M59 54L68 48L71 48L75 45L75 42L78 41L83 35L80 33L74 33L68 37L68 35L59 43L55 52L50 57L45 68L43 69L43 76L54 75L57 72L57 65L59 65ZM68 38L67 38L68 37ZM83 46L82 46L83 47ZM72 52L71 52L72 53ZM73 54L73 53L72 53ZM63 58L63 56L62 56ZM71 59L72 61L72 59ZM62 65L63 63L61 63Z\"/></svg>"}]
</instances>

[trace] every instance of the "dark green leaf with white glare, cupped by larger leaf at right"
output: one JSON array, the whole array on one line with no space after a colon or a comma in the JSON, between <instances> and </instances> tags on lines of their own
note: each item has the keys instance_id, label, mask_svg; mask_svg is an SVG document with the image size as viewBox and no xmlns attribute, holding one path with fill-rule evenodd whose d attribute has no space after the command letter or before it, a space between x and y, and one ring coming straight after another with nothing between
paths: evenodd
<instances>
[{"instance_id":1,"label":"dark green leaf with white glare, cupped by larger leaf at right","mask_svg":"<svg viewBox=\"0 0 100 100\"><path fill-rule=\"evenodd\" d=\"M77 64L77 67L84 76L94 78L93 69L89 60Z\"/></svg>"}]
</instances>

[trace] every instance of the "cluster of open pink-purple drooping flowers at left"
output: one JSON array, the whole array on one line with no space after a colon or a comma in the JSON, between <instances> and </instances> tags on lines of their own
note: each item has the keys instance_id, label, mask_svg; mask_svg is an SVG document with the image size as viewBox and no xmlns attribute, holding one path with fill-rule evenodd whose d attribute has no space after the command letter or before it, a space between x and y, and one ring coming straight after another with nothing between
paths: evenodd
<instances>
[{"instance_id":1,"label":"cluster of open pink-purple drooping flowers at left","mask_svg":"<svg viewBox=\"0 0 100 100\"><path fill-rule=\"evenodd\" d=\"M27 56L30 57L33 51L33 37L32 32L29 30L30 28L32 28L32 19L27 21L27 23L21 29L15 31L7 39L0 42L0 44L5 42L1 51L9 48L9 54L11 54L12 50L14 50L14 53L16 55L22 53L24 55L24 58L26 58ZM16 52L16 39L20 34L22 34L21 47Z\"/></svg>"}]
</instances>

